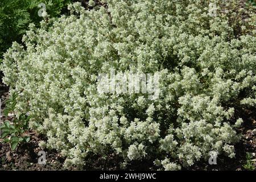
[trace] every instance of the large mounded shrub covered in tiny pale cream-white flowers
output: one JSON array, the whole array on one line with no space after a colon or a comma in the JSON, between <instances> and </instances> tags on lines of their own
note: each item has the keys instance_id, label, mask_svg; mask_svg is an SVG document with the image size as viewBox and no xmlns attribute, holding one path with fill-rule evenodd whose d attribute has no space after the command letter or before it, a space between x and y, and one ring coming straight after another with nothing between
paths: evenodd
<instances>
[{"instance_id":1,"label":"large mounded shrub covered in tiny pale cream-white flowers","mask_svg":"<svg viewBox=\"0 0 256 182\"><path fill-rule=\"evenodd\" d=\"M5 53L3 81L19 95L16 111L47 135L41 146L78 167L92 155L159 169L213 152L233 158L242 123L234 107L256 104L255 9L216 1L209 16L209 1L102 2L108 8L75 3L70 16L30 24L26 46ZM110 69L159 73L159 98L99 94L97 76Z\"/></svg>"}]
</instances>

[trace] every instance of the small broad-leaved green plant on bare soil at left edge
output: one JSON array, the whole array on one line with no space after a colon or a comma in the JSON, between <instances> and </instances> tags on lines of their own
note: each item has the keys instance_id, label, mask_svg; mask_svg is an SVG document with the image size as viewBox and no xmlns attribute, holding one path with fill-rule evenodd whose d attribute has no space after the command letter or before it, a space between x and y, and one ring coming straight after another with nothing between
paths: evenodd
<instances>
[{"instance_id":1,"label":"small broad-leaved green plant on bare soil at left edge","mask_svg":"<svg viewBox=\"0 0 256 182\"><path fill-rule=\"evenodd\" d=\"M8 116L9 113L14 113L16 106L17 94L13 93L9 100L6 101L6 108L3 113ZM26 114L20 114L19 117L15 117L10 121L3 122L1 125L1 138L4 143L9 143L11 150L15 150L20 143L29 142L30 137L24 136L24 133L28 131L28 121L30 117Z\"/></svg>"}]
</instances>

